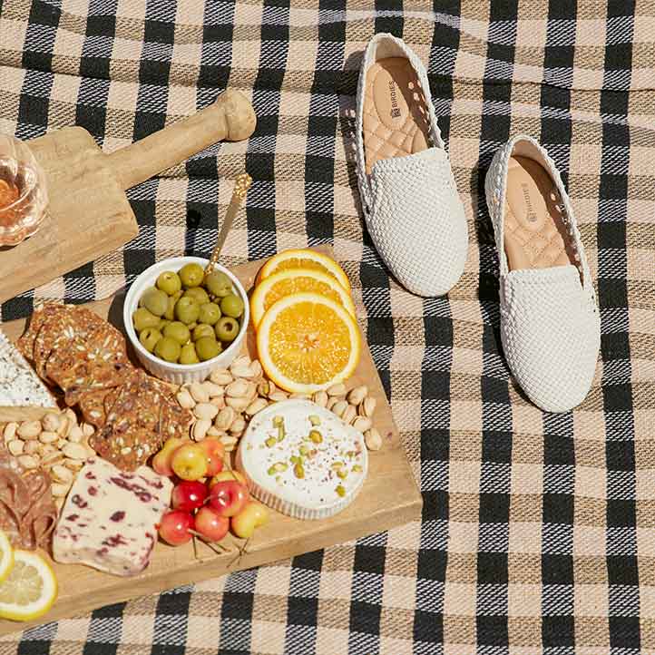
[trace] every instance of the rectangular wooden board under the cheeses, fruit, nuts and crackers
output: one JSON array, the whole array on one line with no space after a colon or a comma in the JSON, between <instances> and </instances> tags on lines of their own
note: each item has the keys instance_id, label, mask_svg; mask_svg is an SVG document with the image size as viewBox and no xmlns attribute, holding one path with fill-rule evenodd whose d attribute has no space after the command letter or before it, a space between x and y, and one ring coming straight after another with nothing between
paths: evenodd
<instances>
[{"instance_id":1,"label":"rectangular wooden board under the cheeses, fruit, nuts and crackers","mask_svg":"<svg viewBox=\"0 0 655 655\"><path fill-rule=\"evenodd\" d=\"M320 250L331 254L327 248ZM251 261L233 269L244 288L252 287L263 263L263 260ZM122 298L122 293L118 293L112 298L89 303L87 307L122 328ZM23 333L24 326L25 321L18 320L1 328L15 341ZM255 357L251 334L247 347L250 355ZM247 552L241 554L237 549L239 541L230 536L224 540L230 552L220 555L202 543L197 544L195 553L192 543L178 547L157 543L150 566L132 578L116 577L81 565L54 563L59 597L53 609L32 623L0 621L0 634L181 584L207 580L225 572L276 562L419 519L423 503L421 494L368 347L363 348L356 374L348 381L348 386L360 384L366 384L370 394L377 399L374 424L383 435L384 445L380 451L369 453L366 484L355 502L342 513L323 521L300 521L271 510L270 522L258 528Z\"/></svg>"}]
</instances>

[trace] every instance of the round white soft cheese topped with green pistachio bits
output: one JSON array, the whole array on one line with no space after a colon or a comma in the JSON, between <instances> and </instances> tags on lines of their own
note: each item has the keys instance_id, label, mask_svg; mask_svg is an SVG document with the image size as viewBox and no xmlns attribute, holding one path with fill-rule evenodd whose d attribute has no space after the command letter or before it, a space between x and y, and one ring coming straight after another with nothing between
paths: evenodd
<instances>
[{"instance_id":1,"label":"round white soft cheese topped with green pistachio bits","mask_svg":"<svg viewBox=\"0 0 655 655\"><path fill-rule=\"evenodd\" d=\"M284 421L281 441L276 416ZM320 425L313 425L310 417L317 416ZM319 444L308 440L312 430L320 433ZM302 445L311 455L304 458L300 479L290 458L298 457ZM273 473L271 467L280 463L286 468ZM344 479L338 477L339 464L347 473ZM252 417L241 437L237 467L245 474L250 493L262 503L298 519L324 519L355 500L367 477L368 455L364 436L352 425L315 403L287 400ZM343 495L337 494L338 486L343 487Z\"/></svg>"}]
</instances>

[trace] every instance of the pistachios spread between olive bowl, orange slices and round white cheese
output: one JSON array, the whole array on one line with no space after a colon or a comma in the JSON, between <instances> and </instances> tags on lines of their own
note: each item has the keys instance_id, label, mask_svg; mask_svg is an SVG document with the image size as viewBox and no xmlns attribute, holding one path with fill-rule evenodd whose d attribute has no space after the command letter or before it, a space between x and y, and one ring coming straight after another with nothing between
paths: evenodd
<instances>
[{"instance_id":1,"label":"pistachios spread between olive bowl, orange slices and round white cheese","mask_svg":"<svg viewBox=\"0 0 655 655\"><path fill-rule=\"evenodd\" d=\"M181 386L177 393L180 405L193 414L191 438L201 441L207 436L218 437L227 452L236 448L252 416L271 403L289 398L313 400L327 407L364 434L369 450L382 446L373 427L376 399L368 395L367 386L347 390L345 385L338 384L313 395L288 394L264 377L257 359L241 356L230 368L218 368L209 379Z\"/></svg>"}]
</instances>

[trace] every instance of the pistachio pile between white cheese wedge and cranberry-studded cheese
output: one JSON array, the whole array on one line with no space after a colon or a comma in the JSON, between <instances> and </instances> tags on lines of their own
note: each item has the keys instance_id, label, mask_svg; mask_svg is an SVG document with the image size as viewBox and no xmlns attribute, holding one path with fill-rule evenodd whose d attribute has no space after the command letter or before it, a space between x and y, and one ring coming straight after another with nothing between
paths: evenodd
<instances>
[{"instance_id":1,"label":"pistachio pile between white cheese wedge and cranberry-studded cheese","mask_svg":"<svg viewBox=\"0 0 655 655\"><path fill-rule=\"evenodd\" d=\"M94 455L88 439L93 425L78 424L72 409L48 412L40 421L7 423L5 447L26 470L42 468L53 479L52 492L58 507L71 488L87 457Z\"/></svg>"}]
</instances>

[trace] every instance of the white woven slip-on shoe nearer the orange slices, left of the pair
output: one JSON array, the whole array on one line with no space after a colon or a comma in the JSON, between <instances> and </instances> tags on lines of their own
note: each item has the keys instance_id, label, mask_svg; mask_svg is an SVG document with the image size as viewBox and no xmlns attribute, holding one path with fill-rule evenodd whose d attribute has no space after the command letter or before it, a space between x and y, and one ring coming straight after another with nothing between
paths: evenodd
<instances>
[{"instance_id":1,"label":"white woven slip-on shoe nearer the orange slices, left of the pair","mask_svg":"<svg viewBox=\"0 0 655 655\"><path fill-rule=\"evenodd\" d=\"M441 296L462 275L468 230L436 124L425 68L376 34L357 87L357 181L373 242L396 279Z\"/></svg>"}]
</instances>

